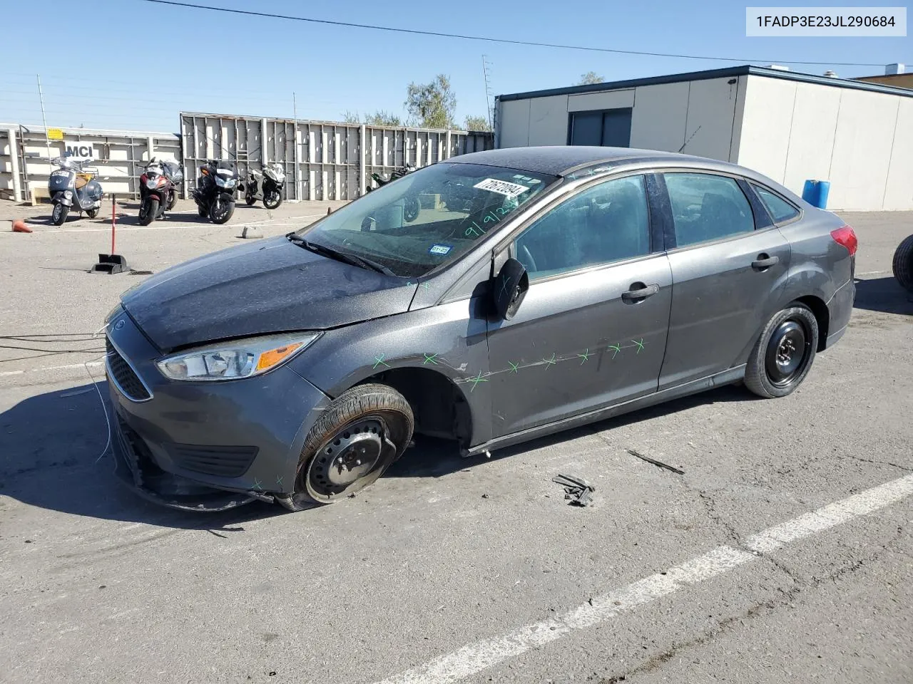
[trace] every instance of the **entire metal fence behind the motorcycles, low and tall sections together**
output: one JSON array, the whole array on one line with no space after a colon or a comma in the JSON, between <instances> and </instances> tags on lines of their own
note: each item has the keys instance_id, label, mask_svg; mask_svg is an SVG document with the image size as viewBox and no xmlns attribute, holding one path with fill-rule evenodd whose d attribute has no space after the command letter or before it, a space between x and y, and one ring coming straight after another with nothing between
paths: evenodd
<instances>
[{"instance_id":1,"label":"entire metal fence behind the motorcycles, low and tall sections together","mask_svg":"<svg viewBox=\"0 0 913 684\"><path fill-rule=\"evenodd\" d=\"M223 159L236 161L240 173L278 161L285 167L289 200L353 200L371 185L374 171L389 173L405 163L423 167L494 146L491 133L466 130L193 112L181 113L180 135L59 130L63 140L47 141L43 127L0 123L0 197L23 202L46 192L49 159L69 151L91 156L104 191L121 196L139 195L142 169L157 156L184 164L184 197L194 187L197 166Z\"/></svg>"}]
</instances>

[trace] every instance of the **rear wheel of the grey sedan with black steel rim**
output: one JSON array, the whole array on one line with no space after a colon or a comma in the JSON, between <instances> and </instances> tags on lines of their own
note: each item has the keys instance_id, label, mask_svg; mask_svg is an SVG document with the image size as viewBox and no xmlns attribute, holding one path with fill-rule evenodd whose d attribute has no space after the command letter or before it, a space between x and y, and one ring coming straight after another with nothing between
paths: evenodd
<instances>
[{"instance_id":1,"label":"rear wheel of the grey sedan with black steel rim","mask_svg":"<svg viewBox=\"0 0 913 684\"><path fill-rule=\"evenodd\" d=\"M818 321L799 303L773 316L751 350L745 386L759 397L785 397L812 368L818 348Z\"/></svg>"}]
</instances>

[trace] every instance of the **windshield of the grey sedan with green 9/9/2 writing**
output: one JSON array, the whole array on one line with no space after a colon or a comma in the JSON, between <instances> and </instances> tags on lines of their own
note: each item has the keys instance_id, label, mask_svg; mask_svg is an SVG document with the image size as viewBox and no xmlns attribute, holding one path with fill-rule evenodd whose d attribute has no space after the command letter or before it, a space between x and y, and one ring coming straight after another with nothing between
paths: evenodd
<instances>
[{"instance_id":1,"label":"windshield of the grey sedan with green 9/9/2 writing","mask_svg":"<svg viewBox=\"0 0 913 684\"><path fill-rule=\"evenodd\" d=\"M467 252L556 176L439 162L369 192L295 233L371 259L395 275L425 275Z\"/></svg>"}]
</instances>

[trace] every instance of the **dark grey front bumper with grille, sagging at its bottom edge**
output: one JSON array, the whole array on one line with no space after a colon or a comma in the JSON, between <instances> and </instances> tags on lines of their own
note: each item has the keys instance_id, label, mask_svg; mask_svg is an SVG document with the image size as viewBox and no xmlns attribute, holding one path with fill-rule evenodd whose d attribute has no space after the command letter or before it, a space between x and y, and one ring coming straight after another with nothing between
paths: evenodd
<instances>
[{"instance_id":1,"label":"dark grey front bumper with grille, sagging at its bottom edge","mask_svg":"<svg viewBox=\"0 0 913 684\"><path fill-rule=\"evenodd\" d=\"M130 316L108 326L105 371L115 472L154 503L224 511L294 492L304 440L330 399L290 368L226 382L175 382Z\"/></svg>"}]
</instances>

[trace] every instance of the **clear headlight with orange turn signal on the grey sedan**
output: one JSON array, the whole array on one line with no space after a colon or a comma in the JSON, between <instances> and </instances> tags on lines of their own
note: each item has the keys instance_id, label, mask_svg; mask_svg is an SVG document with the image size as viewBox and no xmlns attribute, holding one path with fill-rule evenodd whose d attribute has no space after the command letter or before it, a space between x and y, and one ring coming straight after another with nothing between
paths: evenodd
<instances>
[{"instance_id":1,"label":"clear headlight with orange turn signal on the grey sedan","mask_svg":"<svg viewBox=\"0 0 913 684\"><path fill-rule=\"evenodd\" d=\"M173 380L250 378L278 368L318 337L320 333L249 337L163 358L156 365Z\"/></svg>"}]
</instances>

